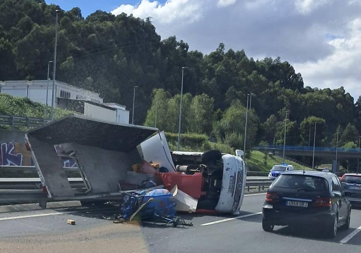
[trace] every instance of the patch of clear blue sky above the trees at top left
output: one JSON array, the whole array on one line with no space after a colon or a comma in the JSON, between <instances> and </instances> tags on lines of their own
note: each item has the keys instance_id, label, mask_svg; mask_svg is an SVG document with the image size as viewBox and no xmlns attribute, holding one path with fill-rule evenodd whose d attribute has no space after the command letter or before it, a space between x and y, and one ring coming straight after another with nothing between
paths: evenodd
<instances>
[{"instance_id":1,"label":"patch of clear blue sky above the trees at top left","mask_svg":"<svg viewBox=\"0 0 361 253\"><path fill-rule=\"evenodd\" d=\"M166 0L160 0L159 3L164 3ZM82 10L83 17L96 10L104 10L110 12L121 4L138 5L140 0L45 0L47 4L57 4L63 10L71 10L74 7L79 7Z\"/></svg>"}]
</instances>

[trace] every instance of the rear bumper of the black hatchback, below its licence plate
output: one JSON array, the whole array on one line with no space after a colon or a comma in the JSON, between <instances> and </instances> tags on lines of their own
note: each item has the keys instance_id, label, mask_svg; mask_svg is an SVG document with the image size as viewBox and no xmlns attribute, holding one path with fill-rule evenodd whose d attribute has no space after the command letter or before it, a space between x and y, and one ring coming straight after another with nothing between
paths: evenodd
<instances>
[{"instance_id":1,"label":"rear bumper of the black hatchback, below its licence plate","mask_svg":"<svg viewBox=\"0 0 361 253\"><path fill-rule=\"evenodd\" d=\"M301 224L318 224L332 222L335 213L331 210L321 211L318 213L291 213L273 210L271 208L262 208L263 219L274 225L301 225Z\"/></svg>"}]
</instances>

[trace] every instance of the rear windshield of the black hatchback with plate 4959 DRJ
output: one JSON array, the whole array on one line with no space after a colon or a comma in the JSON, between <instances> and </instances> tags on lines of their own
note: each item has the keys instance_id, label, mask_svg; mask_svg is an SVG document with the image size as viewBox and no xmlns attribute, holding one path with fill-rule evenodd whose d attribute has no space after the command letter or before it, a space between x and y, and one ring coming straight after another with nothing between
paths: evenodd
<instances>
[{"instance_id":1,"label":"rear windshield of the black hatchback with plate 4959 DRJ","mask_svg":"<svg viewBox=\"0 0 361 253\"><path fill-rule=\"evenodd\" d=\"M305 175L280 175L273 183L273 187L288 189L303 189L312 192L327 191L327 181L322 177Z\"/></svg>"}]
</instances>

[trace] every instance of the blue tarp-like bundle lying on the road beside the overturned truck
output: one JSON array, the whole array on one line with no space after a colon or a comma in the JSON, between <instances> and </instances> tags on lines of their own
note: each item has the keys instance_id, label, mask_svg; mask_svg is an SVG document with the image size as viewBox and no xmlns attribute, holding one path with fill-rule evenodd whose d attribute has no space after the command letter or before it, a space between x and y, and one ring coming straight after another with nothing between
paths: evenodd
<instances>
[{"instance_id":1,"label":"blue tarp-like bundle lying on the road beside the overturned truck","mask_svg":"<svg viewBox=\"0 0 361 253\"><path fill-rule=\"evenodd\" d=\"M127 194L124 202L123 219L127 220L150 198L153 198L137 215L145 220L155 216L174 216L175 198L166 189L141 190Z\"/></svg>"}]
</instances>

